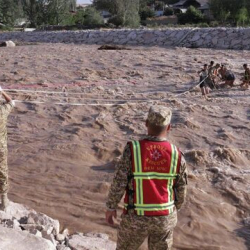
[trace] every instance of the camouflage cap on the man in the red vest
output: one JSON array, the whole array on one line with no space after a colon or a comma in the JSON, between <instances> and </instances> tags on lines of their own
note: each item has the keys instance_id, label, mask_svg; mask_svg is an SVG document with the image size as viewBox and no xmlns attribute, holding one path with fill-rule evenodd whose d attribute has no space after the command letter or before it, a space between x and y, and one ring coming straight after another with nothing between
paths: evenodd
<instances>
[{"instance_id":1,"label":"camouflage cap on the man in the red vest","mask_svg":"<svg viewBox=\"0 0 250 250\"><path fill-rule=\"evenodd\" d=\"M148 122L157 126L166 126L170 124L172 111L170 108L156 105L151 106L148 111Z\"/></svg>"}]
</instances>

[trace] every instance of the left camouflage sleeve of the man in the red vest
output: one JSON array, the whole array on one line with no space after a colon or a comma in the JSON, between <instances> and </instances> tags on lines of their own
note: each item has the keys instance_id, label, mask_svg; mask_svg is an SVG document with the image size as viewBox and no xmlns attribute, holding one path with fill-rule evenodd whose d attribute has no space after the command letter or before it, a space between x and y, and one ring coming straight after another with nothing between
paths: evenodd
<instances>
[{"instance_id":1,"label":"left camouflage sleeve of the man in the red vest","mask_svg":"<svg viewBox=\"0 0 250 250\"><path fill-rule=\"evenodd\" d=\"M127 145L123 151L122 158L116 166L116 172L108 194L108 201L106 203L108 209L116 209L118 203L122 199L128 184L130 169L132 169L131 150L129 145Z\"/></svg>"}]
</instances>

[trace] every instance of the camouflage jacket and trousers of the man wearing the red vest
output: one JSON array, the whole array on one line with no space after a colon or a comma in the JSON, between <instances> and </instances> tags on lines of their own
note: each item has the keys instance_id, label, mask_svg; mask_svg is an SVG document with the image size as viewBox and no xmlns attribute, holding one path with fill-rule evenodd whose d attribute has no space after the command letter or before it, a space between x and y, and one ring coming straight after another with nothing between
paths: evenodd
<instances>
[{"instance_id":1,"label":"camouflage jacket and trousers of the man wearing the red vest","mask_svg":"<svg viewBox=\"0 0 250 250\"><path fill-rule=\"evenodd\" d=\"M150 114L149 114L150 115ZM152 118L151 116L148 116ZM152 118L155 119L155 118ZM168 121L169 124L170 120ZM164 124L161 122L161 124ZM166 141L157 137L147 136L150 141ZM108 195L106 206L109 210L117 209L126 187L133 190L132 175L132 154L129 145L126 145L122 158L117 165L113 183ZM184 157L181 158L180 176L176 183L175 201L177 210L181 208L186 197L187 169ZM129 197L129 205L133 205L133 195ZM134 210L128 210L128 214L122 215L122 222L118 230L117 250L136 250L140 247L146 237L150 250L167 250L173 245L173 229L177 224L176 210L168 216L138 216Z\"/></svg>"}]
</instances>

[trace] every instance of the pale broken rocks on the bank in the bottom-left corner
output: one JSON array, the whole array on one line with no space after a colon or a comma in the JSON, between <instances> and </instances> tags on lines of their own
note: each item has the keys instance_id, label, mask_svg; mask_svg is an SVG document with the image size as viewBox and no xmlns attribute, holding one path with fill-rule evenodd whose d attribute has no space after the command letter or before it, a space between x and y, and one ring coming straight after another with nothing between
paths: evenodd
<instances>
[{"instance_id":1,"label":"pale broken rocks on the bank in the bottom-left corner","mask_svg":"<svg viewBox=\"0 0 250 250\"><path fill-rule=\"evenodd\" d=\"M114 250L108 235L60 232L58 220L10 202L0 211L0 249L2 250Z\"/></svg>"}]
</instances>

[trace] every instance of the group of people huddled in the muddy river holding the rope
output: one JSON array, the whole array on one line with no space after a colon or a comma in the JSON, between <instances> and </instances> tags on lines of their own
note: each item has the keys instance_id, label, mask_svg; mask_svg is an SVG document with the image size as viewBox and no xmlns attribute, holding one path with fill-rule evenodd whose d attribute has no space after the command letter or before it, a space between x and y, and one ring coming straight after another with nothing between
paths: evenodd
<instances>
[{"instance_id":1,"label":"group of people huddled in the muddy river holding the rope","mask_svg":"<svg viewBox=\"0 0 250 250\"><path fill-rule=\"evenodd\" d=\"M243 68L245 70L244 77L238 86L248 89L250 84L250 68L247 64L243 64ZM211 61L209 65L204 64L203 68L198 71L198 74L200 75L199 86L201 93L206 99L210 89L234 86L235 75L224 64L215 64L214 61ZM223 81L223 83L220 83L221 81Z\"/></svg>"}]
</instances>

